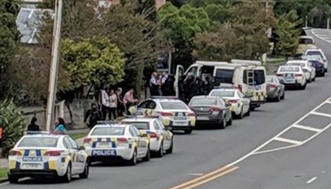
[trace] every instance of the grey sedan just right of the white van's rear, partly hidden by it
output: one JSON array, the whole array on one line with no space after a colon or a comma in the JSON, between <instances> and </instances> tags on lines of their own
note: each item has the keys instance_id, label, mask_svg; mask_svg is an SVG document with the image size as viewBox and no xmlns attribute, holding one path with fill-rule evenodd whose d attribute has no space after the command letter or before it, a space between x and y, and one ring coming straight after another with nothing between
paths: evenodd
<instances>
[{"instance_id":1,"label":"grey sedan just right of the white van's rear, partly hidden by it","mask_svg":"<svg viewBox=\"0 0 331 189\"><path fill-rule=\"evenodd\" d=\"M267 100L279 102L285 98L285 86L280 83L276 75L267 75Z\"/></svg>"}]
</instances>

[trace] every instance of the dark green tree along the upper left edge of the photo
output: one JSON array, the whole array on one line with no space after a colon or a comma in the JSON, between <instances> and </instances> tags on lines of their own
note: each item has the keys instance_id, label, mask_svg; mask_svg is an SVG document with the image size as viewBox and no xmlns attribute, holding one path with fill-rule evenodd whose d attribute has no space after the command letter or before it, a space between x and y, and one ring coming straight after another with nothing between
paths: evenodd
<instances>
[{"instance_id":1,"label":"dark green tree along the upper left edge of the photo","mask_svg":"<svg viewBox=\"0 0 331 189\"><path fill-rule=\"evenodd\" d=\"M19 31L16 17L19 12L17 0L0 1L0 99L10 95L10 78L8 69L15 56Z\"/></svg>"}]
</instances>

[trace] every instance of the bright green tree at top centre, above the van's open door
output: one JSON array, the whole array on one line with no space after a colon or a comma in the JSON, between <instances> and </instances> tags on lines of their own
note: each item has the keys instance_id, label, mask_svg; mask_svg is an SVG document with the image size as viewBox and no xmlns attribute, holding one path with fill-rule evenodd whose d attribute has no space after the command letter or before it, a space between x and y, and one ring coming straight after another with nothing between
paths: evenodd
<instances>
[{"instance_id":1,"label":"bright green tree at top centre, above the van's open door","mask_svg":"<svg viewBox=\"0 0 331 189\"><path fill-rule=\"evenodd\" d=\"M163 38L173 48L172 62L188 66L193 61L191 53L195 33L210 28L207 13L189 4L178 9L166 3L159 11L159 20Z\"/></svg>"}]
</instances>

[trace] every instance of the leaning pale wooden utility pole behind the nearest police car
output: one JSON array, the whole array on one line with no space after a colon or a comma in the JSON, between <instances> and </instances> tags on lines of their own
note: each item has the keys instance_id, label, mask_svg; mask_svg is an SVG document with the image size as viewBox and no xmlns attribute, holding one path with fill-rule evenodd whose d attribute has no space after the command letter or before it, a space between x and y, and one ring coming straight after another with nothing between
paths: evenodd
<instances>
[{"instance_id":1,"label":"leaning pale wooden utility pole behind the nearest police car","mask_svg":"<svg viewBox=\"0 0 331 189\"><path fill-rule=\"evenodd\" d=\"M48 84L48 98L46 109L46 130L51 130L54 123L57 74L59 68L60 40L61 40L62 0L55 2L55 17L53 26L52 57Z\"/></svg>"}]
</instances>

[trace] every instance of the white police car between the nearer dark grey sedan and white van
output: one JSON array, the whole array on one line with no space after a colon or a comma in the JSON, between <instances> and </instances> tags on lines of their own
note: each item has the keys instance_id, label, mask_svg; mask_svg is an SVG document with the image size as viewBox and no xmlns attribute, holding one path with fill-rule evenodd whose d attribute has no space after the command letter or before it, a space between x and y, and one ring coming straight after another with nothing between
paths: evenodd
<instances>
[{"instance_id":1,"label":"white police car between the nearer dark grey sedan and white van","mask_svg":"<svg viewBox=\"0 0 331 189\"><path fill-rule=\"evenodd\" d=\"M219 88L213 89L209 96L222 97L226 103L231 104L230 110L233 117L242 119L250 115L250 99L246 98L237 88Z\"/></svg>"}]
</instances>

